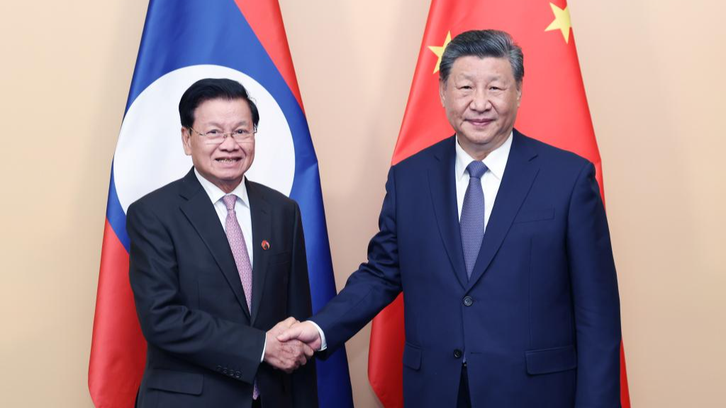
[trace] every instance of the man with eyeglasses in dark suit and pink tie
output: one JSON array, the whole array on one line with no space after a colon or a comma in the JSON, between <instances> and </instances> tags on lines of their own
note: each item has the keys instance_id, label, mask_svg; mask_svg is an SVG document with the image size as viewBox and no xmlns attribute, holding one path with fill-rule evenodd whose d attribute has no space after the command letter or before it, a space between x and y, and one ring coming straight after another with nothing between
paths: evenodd
<instances>
[{"instance_id":1,"label":"man with eyeglasses in dark suit and pink tie","mask_svg":"<svg viewBox=\"0 0 726 408\"><path fill-rule=\"evenodd\" d=\"M148 344L136 406L317 407L312 349L277 340L311 300L298 205L245 178L257 107L240 83L203 79L179 115L194 167L127 213Z\"/></svg>"}]
</instances>

